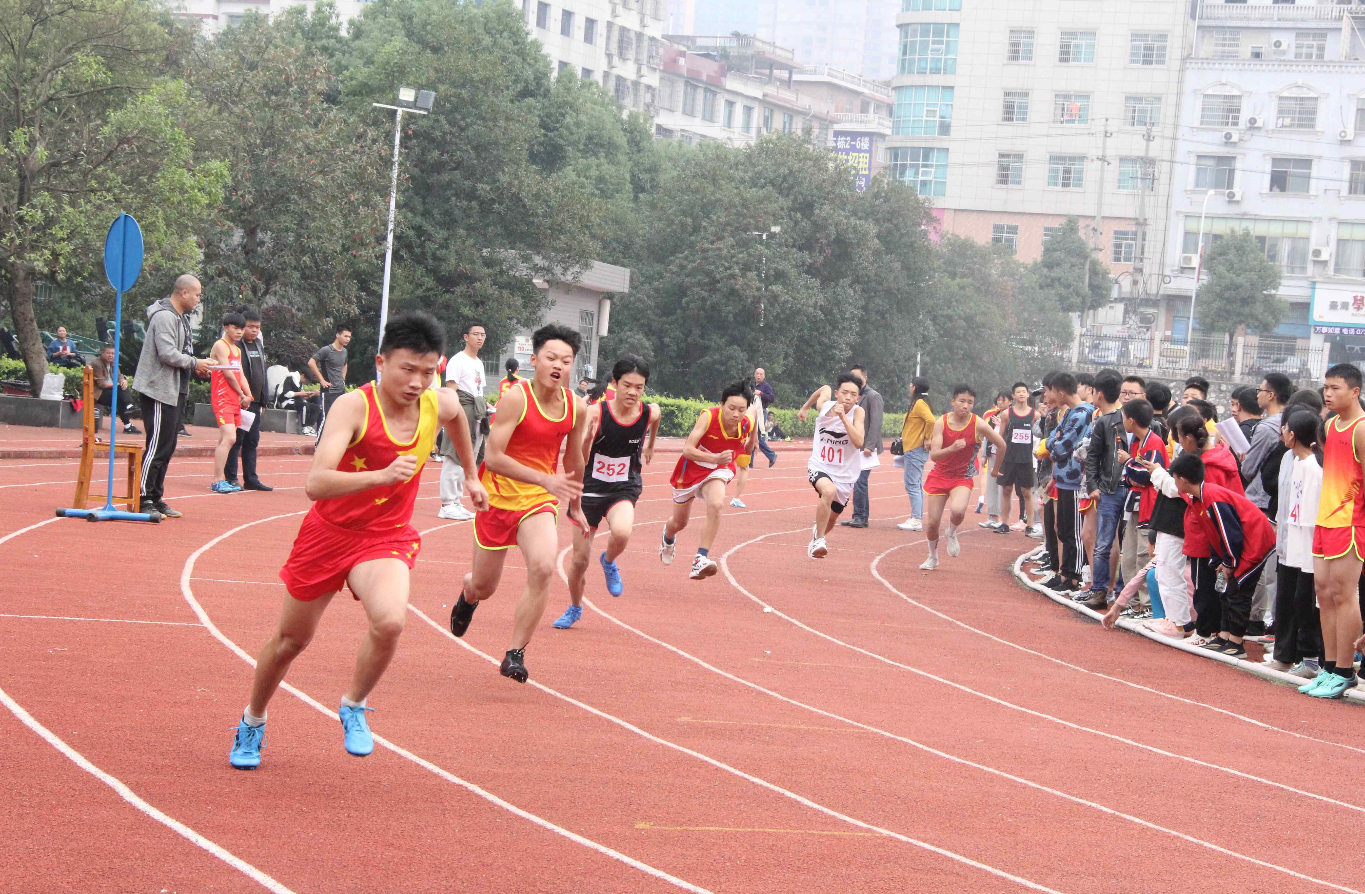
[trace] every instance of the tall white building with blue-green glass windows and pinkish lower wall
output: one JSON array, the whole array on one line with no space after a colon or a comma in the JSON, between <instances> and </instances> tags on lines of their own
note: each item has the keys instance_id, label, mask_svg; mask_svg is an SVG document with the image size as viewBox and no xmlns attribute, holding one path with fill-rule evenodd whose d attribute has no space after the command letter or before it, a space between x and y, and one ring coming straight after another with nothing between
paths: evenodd
<instances>
[{"instance_id":1,"label":"tall white building with blue-green glass windows and pinkish lower wall","mask_svg":"<svg viewBox=\"0 0 1365 894\"><path fill-rule=\"evenodd\" d=\"M1189 5L904 0L897 30L887 165L942 232L1033 261L1074 214L1126 295L1155 293Z\"/></svg>"}]
</instances>

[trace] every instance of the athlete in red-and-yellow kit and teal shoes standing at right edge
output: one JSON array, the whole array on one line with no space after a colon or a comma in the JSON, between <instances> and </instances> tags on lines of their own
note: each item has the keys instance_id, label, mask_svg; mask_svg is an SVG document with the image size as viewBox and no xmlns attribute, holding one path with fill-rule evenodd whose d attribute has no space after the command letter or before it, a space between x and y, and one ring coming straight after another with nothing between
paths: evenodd
<instances>
[{"instance_id":1,"label":"athlete in red-and-yellow kit and teal shoes standing at right edge","mask_svg":"<svg viewBox=\"0 0 1365 894\"><path fill-rule=\"evenodd\" d=\"M1357 586L1365 549L1365 412L1361 371L1338 363L1323 377L1323 403L1336 414L1323 441L1323 494L1313 530L1313 583L1323 622L1323 673L1299 688L1319 699L1339 699L1357 685L1354 652L1365 646ZM1332 673L1328 674L1327 670Z\"/></svg>"}]
</instances>

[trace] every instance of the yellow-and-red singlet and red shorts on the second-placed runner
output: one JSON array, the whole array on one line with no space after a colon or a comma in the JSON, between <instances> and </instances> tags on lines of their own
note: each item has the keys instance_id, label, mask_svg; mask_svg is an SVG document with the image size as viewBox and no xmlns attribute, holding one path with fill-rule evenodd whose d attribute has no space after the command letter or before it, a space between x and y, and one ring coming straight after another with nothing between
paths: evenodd
<instances>
[{"instance_id":1,"label":"yellow-and-red singlet and red shorts on the second-placed runner","mask_svg":"<svg viewBox=\"0 0 1365 894\"><path fill-rule=\"evenodd\" d=\"M560 448L577 422L573 393L564 393L564 414L550 418L535 399L531 382L523 379L512 388L521 389L526 404L521 418L508 438L506 455L521 465L553 475L560 468ZM508 389L511 390L511 389ZM489 491L489 510L474 519L474 542L486 550L505 550L516 546L516 530L523 520L538 512L558 515L560 500L545 487L498 475L487 464L479 467L479 480Z\"/></svg>"}]
</instances>

